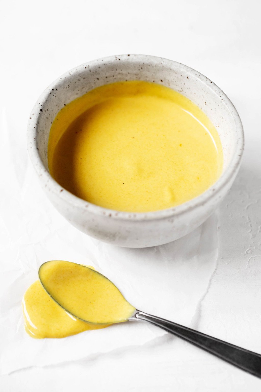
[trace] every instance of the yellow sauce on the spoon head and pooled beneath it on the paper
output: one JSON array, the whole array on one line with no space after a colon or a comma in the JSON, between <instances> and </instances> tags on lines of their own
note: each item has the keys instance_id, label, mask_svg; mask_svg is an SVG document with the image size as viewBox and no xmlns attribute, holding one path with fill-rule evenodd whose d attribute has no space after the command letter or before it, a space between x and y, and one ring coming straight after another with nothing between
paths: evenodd
<instances>
[{"instance_id":1,"label":"yellow sauce on the spoon head and pooled beneath it on the paper","mask_svg":"<svg viewBox=\"0 0 261 392\"><path fill-rule=\"evenodd\" d=\"M39 277L45 289L37 280L22 301L25 330L34 338L64 338L104 328L126 321L135 311L117 287L91 267L49 261Z\"/></svg>"}]
</instances>

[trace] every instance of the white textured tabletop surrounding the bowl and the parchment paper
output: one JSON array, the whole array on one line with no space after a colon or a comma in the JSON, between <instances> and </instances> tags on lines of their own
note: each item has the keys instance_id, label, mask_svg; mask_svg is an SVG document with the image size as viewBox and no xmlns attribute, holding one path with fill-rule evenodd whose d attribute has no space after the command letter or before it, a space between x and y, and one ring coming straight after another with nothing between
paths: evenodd
<instances>
[{"instance_id":1,"label":"white textured tabletop surrounding the bowl and the parchment paper","mask_svg":"<svg viewBox=\"0 0 261 392\"><path fill-rule=\"evenodd\" d=\"M99 57L142 53L176 60L225 91L238 109L246 138L238 178L217 211L218 258L197 305L194 326L261 353L260 2L11 0L2 2L0 13L4 178L0 265L6 276L8 271L9 277L15 274L16 249L29 249L29 245L36 249L38 244L35 238L29 243L23 237L23 214L30 208L18 208L21 195L6 173L12 166L20 189L24 190L24 184L26 192L34 189L37 180L30 172L25 135L29 113L41 92L68 69ZM11 145L8 156L7 145ZM41 203L49 206L42 198ZM48 220L47 216L46 221L35 222L42 225L43 233ZM67 229L63 218L57 221ZM2 294L7 295L5 290ZM261 381L172 336L63 365L30 367L0 379L1 392L76 388L259 391Z\"/></svg>"}]
</instances>

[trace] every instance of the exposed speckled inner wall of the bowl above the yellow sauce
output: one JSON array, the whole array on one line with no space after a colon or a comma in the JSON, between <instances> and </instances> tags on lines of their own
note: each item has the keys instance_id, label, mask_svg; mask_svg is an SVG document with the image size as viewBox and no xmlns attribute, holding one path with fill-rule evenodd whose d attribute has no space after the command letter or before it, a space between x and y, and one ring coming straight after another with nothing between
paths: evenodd
<instances>
[{"instance_id":1,"label":"exposed speckled inner wall of the bowl above the yellow sauce","mask_svg":"<svg viewBox=\"0 0 261 392\"><path fill-rule=\"evenodd\" d=\"M34 107L36 147L48 170L49 131L59 110L75 98L107 83L146 80L163 84L183 94L203 110L216 127L223 147L223 172L236 151L237 130L233 105L209 79L193 69L170 60L144 55L121 55L94 60L67 72L50 85ZM236 112L236 111L235 111Z\"/></svg>"}]
</instances>

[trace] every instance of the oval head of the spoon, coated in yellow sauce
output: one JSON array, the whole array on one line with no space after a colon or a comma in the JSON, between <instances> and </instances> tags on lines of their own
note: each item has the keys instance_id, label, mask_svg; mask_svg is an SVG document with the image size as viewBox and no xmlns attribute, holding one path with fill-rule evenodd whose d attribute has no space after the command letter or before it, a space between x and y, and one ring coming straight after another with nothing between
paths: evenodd
<instances>
[{"instance_id":1,"label":"oval head of the spoon, coated in yellow sauce","mask_svg":"<svg viewBox=\"0 0 261 392\"><path fill-rule=\"evenodd\" d=\"M121 323L135 312L120 290L93 268L52 260L41 265L38 275L43 288L58 305L89 324Z\"/></svg>"}]
</instances>

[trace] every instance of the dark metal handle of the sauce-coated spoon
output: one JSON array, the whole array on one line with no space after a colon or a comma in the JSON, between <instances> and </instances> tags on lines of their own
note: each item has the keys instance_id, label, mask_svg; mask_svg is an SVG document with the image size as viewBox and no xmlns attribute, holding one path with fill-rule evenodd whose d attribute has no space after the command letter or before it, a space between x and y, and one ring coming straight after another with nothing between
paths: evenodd
<instances>
[{"instance_id":1,"label":"dark metal handle of the sauce-coated spoon","mask_svg":"<svg viewBox=\"0 0 261 392\"><path fill-rule=\"evenodd\" d=\"M232 345L220 339L213 338L212 336L202 334L194 329L183 327L182 325L173 323L172 321L140 312L140 310L137 310L131 319L144 320L157 325L167 332L179 336L180 338L203 348L203 350L216 355L224 361L227 361L232 365L261 378L260 354L245 350L245 348Z\"/></svg>"}]
</instances>

